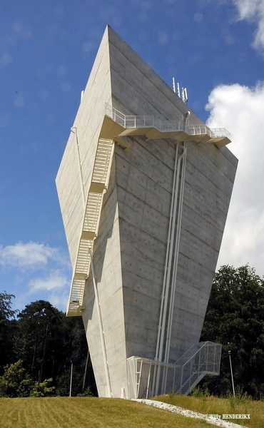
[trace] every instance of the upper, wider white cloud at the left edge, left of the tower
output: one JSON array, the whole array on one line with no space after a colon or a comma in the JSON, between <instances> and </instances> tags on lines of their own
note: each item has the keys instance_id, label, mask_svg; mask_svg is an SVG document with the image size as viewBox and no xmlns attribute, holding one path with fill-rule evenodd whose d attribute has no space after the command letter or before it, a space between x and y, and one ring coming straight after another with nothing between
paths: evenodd
<instances>
[{"instance_id":1,"label":"upper, wider white cloud at the left edge, left of the tower","mask_svg":"<svg viewBox=\"0 0 264 428\"><path fill-rule=\"evenodd\" d=\"M45 266L49 261L56 261L64 265L68 263L57 248L51 248L49 245L19 242L15 245L0 247L0 264L4 266L35 268Z\"/></svg>"}]
</instances>

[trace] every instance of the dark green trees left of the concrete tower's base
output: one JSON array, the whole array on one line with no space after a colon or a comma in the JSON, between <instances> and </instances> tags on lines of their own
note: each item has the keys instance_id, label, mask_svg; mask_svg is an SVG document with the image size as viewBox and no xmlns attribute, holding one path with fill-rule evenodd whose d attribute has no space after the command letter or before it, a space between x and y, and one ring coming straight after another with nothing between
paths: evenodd
<instances>
[{"instance_id":1,"label":"dark green trees left of the concrete tower's base","mask_svg":"<svg viewBox=\"0 0 264 428\"><path fill-rule=\"evenodd\" d=\"M19 392L19 397L26 397L32 391L39 396L48 394L53 386L44 379L51 378L58 388L56 394L68 395L68 370L72 361L72 395L87 388L97 394L91 360L87 360L88 347L81 317L66 318L64 312L49 302L38 300L26 305L17 319L12 320L16 311L11 310L11 297L14 296L0 293L0 376L6 376L6 365L15 365L25 394ZM18 360L19 368L16 367ZM14 396L9 392L4 395Z\"/></svg>"}]
</instances>

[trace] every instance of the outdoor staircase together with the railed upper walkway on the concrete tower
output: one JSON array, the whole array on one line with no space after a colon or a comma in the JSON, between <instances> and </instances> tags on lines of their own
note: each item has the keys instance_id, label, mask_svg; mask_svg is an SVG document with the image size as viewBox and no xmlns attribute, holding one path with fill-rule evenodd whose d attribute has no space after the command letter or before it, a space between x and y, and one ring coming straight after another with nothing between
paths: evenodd
<instances>
[{"instance_id":1,"label":"outdoor staircase together with the railed upper walkway on the concrete tower","mask_svg":"<svg viewBox=\"0 0 264 428\"><path fill-rule=\"evenodd\" d=\"M103 193L107 188L108 172L113 153L113 141L116 140L125 150L128 146L120 137L131 135L144 135L147 140L151 138L175 138L177 141L193 140L199 143L215 143L219 148L230 143L230 133L225 128L210 129L203 124L189 125L183 116L178 121L161 121L153 116L125 116L107 103L104 113L105 119L100 135L106 138L99 138L98 140L91 185L87 198L84 195L83 180L81 178L85 209L76 264L73 269L71 292L66 312L67 316L81 316L81 311L84 309L83 294L90 270L93 240L98 233ZM77 134L76 143L78 151Z\"/></svg>"}]
</instances>

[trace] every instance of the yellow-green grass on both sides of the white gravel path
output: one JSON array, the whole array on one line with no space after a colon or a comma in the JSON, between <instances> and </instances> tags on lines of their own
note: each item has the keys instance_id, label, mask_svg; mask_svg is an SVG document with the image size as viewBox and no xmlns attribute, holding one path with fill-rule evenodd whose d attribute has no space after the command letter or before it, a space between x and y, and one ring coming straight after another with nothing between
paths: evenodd
<instances>
[{"instance_id":1,"label":"yellow-green grass on both sides of the white gravel path","mask_svg":"<svg viewBox=\"0 0 264 428\"><path fill-rule=\"evenodd\" d=\"M233 420L247 427L264 427L263 402L232 402L215 397L158 397L163 402L204 414L250 413L250 420ZM214 425L124 399L96 397L1 398L1 428L199 428Z\"/></svg>"}]
</instances>

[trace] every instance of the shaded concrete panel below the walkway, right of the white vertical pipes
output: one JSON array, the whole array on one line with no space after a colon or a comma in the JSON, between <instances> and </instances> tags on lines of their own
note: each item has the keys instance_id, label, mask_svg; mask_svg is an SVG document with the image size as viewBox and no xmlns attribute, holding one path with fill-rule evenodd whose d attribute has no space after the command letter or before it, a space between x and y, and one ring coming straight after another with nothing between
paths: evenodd
<instances>
[{"instance_id":1,"label":"shaded concrete panel below the walkway, right of the white vertical pipes","mask_svg":"<svg viewBox=\"0 0 264 428\"><path fill-rule=\"evenodd\" d=\"M171 362L200 339L236 165L212 144L188 143Z\"/></svg>"}]
</instances>

